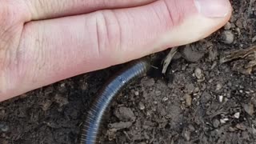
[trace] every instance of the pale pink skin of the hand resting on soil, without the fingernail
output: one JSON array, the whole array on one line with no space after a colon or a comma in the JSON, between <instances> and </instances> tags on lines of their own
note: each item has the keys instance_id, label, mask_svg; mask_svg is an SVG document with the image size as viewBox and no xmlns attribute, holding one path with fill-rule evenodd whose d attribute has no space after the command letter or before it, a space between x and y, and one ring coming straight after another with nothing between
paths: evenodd
<instances>
[{"instance_id":1,"label":"pale pink skin of the hand resting on soil, without the fingernail","mask_svg":"<svg viewBox=\"0 0 256 144\"><path fill-rule=\"evenodd\" d=\"M230 19L194 0L0 0L0 102L206 38Z\"/></svg>"}]
</instances>

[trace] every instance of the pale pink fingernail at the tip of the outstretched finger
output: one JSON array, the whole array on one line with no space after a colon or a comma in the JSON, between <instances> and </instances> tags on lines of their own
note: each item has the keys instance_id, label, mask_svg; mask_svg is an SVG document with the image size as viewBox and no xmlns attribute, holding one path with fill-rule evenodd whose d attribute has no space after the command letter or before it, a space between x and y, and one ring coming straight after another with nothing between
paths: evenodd
<instances>
[{"instance_id":1,"label":"pale pink fingernail at the tip of the outstretched finger","mask_svg":"<svg viewBox=\"0 0 256 144\"><path fill-rule=\"evenodd\" d=\"M210 18L223 18L229 14L229 0L194 0L198 12Z\"/></svg>"}]
</instances>

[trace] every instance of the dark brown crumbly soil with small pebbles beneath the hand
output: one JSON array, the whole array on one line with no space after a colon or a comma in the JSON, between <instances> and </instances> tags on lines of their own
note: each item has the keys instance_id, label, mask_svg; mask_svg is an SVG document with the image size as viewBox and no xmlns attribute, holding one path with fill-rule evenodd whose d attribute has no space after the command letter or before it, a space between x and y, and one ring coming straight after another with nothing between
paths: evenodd
<instances>
[{"instance_id":1,"label":"dark brown crumbly soil with small pebbles beneath the hand","mask_svg":"<svg viewBox=\"0 0 256 144\"><path fill-rule=\"evenodd\" d=\"M256 42L256 2L232 1L221 30L178 48L166 74L149 74L110 106L102 143L256 143L256 71L222 54ZM162 60L169 50L151 57ZM225 52L225 53L224 53ZM161 68L160 61L155 64ZM90 102L122 66L82 74L0 104L0 143L75 143Z\"/></svg>"}]
</instances>

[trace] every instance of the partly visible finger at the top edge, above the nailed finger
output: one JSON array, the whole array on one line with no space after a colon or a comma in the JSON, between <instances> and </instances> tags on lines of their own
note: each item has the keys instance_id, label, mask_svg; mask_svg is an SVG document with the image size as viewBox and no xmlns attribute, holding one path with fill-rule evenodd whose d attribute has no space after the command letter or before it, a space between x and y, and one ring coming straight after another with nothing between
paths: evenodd
<instances>
[{"instance_id":1,"label":"partly visible finger at the top edge, above the nailed finger","mask_svg":"<svg viewBox=\"0 0 256 144\"><path fill-rule=\"evenodd\" d=\"M31 19L58 18L95 10L142 6L154 0L24 0Z\"/></svg>"}]
</instances>

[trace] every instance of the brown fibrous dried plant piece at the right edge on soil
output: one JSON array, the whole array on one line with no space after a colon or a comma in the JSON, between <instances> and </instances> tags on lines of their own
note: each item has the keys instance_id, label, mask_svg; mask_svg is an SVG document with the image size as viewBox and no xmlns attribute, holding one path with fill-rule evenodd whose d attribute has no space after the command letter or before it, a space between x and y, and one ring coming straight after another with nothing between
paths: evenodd
<instances>
[{"instance_id":1,"label":"brown fibrous dried plant piece at the right edge on soil","mask_svg":"<svg viewBox=\"0 0 256 144\"><path fill-rule=\"evenodd\" d=\"M220 58L220 63L232 62L233 70L242 74L251 74L256 70L256 46L227 52Z\"/></svg>"}]
</instances>

